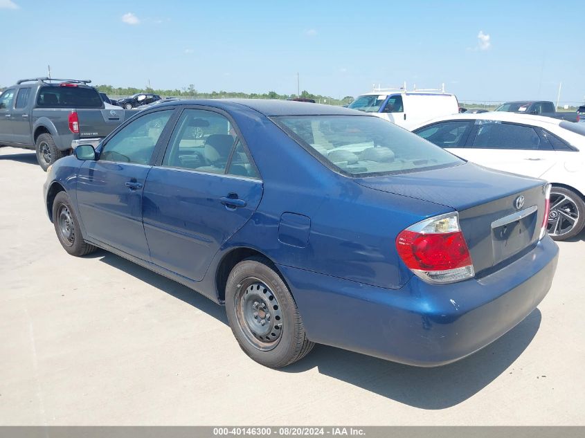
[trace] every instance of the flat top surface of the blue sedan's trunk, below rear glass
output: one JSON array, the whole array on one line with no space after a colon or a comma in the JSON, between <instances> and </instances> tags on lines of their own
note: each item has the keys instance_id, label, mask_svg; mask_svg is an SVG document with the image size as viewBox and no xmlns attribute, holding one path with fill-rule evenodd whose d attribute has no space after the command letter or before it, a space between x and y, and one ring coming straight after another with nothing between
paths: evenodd
<instances>
[{"instance_id":1,"label":"flat top surface of the blue sedan's trunk, below rear glass","mask_svg":"<svg viewBox=\"0 0 585 438\"><path fill-rule=\"evenodd\" d=\"M474 163L408 174L358 178L356 182L364 187L431 201L459 211L544 183L539 179L500 172Z\"/></svg>"}]
</instances>

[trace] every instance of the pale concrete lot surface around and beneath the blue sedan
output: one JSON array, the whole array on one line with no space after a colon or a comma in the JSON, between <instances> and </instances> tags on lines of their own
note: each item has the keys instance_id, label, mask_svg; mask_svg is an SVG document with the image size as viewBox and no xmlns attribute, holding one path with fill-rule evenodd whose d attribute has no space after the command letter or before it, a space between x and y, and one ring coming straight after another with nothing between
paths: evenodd
<instances>
[{"instance_id":1,"label":"pale concrete lot surface around and beneath the blue sedan","mask_svg":"<svg viewBox=\"0 0 585 438\"><path fill-rule=\"evenodd\" d=\"M222 307L100 251L62 250L35 155L0 149L0 425L584 425L585 235L539 308L435 369L317 346L280 371Z\"/></svg>"}]
</instances>

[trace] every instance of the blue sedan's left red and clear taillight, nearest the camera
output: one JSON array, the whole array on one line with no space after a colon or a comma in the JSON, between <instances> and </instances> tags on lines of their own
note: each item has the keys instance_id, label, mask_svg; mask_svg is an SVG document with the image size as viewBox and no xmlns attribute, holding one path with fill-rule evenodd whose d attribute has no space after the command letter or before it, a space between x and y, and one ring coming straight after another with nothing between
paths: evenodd
<instances>
[{"instance_id":1,"label":"blue sedan's left red and clear taillight, nearest the camera","mask_svg":"<svg viewBox=\"0 0 585 438\"><path fill-rule=\"evenodd\" d=\"M396 238L398 255L418 277L452 283L475 275L457 213L415 223Z\"/></svg>"}]
</instances>

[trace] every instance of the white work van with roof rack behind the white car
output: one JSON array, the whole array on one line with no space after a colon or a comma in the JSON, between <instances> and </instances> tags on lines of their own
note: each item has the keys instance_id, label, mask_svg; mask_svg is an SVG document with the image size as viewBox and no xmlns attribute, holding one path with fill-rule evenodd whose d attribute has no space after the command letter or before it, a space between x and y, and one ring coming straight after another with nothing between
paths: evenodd
<instances>
[{"instance_id":1,"label":"white work van with roof rack behind the white car","mask_svg":"<svg viewBox=\"0 0 585 438\"><path fill-rule=\"evenodd\" d=\"M406 129L426 120L459 113L459 102L454 94L442 90L406 91L399 89L374 89L359 95L348 108L390 120Z\"/></svg>"}]
</instances>

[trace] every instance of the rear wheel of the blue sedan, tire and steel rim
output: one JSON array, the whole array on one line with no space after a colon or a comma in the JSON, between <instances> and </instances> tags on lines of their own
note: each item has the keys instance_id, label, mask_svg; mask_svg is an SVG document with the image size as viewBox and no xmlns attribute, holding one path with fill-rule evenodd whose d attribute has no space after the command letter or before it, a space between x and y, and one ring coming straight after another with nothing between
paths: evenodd
<instances>
[{"instance_id":1,"label":"rear wheel of the blue sedan, tire and steel rim","mask_svg":"<svg viewBox=\"0 0 585 438\"><path fill-rule=\"evenodd\" d=\"M260 311L260 320L251 313L254 309ZM245 259L232 269L226 284L226 312L237 343L261 365L285 367L314 347L289 288L262 257ZM260 325L262 320L266 327ZM263 330L268 330L266 337Z\"/></svg>"}]
</instances>

